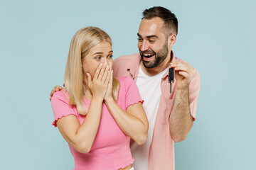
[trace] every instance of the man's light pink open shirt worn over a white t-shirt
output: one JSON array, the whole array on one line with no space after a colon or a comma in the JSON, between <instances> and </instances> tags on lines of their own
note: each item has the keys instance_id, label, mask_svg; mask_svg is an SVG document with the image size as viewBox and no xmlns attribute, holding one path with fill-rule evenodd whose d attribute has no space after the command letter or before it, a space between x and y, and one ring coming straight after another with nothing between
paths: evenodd
<instances>
[{"instance_id":1,"label":"man's light pink open shirt worn over a white t-shirt","mask_svg":"<svg viewBox=\"0 0 256 170\"><path fill-rule=\"evenodd\" d=\"M181 59L174 57L173 52L171 52L171 56L173 56L173 62L183 62ZM132 79L136 81L140 62L141 57L139 53L118 57L116 60L114 60L113 64L114 77L128 76L132 77ZM172 93L170 94L168 72L166 72L164 77L161 79L161 99L159 111L156 115L153 139L149 149L148 167L149 170L174 170L174 140L171 139L169 134L169 118L171 115L171 110L174 106L176 80L174 79L174 84L172 84ZM196 118L196 106L198 102L200 84L200 75L198 74L196 68L194 68L193 79L189 84L189 103L193 120Z\"/></svg>"}]
</instances>

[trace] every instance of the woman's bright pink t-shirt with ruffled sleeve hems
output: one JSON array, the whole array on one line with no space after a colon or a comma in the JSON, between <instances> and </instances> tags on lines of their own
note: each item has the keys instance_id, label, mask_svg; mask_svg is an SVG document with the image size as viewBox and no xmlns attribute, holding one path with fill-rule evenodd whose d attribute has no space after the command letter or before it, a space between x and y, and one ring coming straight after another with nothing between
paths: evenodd
<instances>
[{"instance_id":1,"label":"woman's bright pink t-shirt with ruffled sleeve hems","mask_svg":"<svg viewBox=\"0 0 256 170\"><path fill-rule=\"evenodd\" d=\"M131 78L121 77L118 80L120 86L117 104L124 111L134 103L143 103L138 88ZM84 98L84 101L87 106L90 105L90 100ZM51 104L54 114L53 125L55 127L57 126L57 120L63 116L75 115L80 125L85 120L86 115L80 115L75 106L68 105L68 96L64 91L55 92ZM103 103L100 126L90 152L82 154L69 145L75 159L75 170L113 170L132 164L134 159L129 148L129 142L130 137L122 132L110 111L108 111L106 104Z\"/></svg>"}]
</instances>

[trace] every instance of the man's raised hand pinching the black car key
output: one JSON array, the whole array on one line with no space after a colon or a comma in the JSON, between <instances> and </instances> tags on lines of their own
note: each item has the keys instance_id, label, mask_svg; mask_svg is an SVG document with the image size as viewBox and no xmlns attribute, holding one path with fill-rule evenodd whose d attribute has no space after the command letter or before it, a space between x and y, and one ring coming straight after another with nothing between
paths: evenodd
<instances>
[{"instance_id":1,"label":"man's raised hand pinching the black car key","mask_svg":"<svg viewBox=\"0 0 256 170\"><path fill-rule=\"evenodd\" d=\"M188 89L188 85L193 77L193 67L186 62L171 62L174 68L177 90Z\"/></svg>"}]
</instances>

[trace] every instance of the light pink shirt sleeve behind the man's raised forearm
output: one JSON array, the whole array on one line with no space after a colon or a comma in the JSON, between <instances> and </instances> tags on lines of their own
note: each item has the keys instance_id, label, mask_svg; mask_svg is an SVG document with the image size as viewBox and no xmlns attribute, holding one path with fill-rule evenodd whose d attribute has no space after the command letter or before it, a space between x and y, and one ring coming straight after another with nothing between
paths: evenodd
<instances>
[{"instance_id":1,"label":"light pink shirt sleeve behind the man's raised forearm","mask_svg":"<svg viewBox=\"0 0 256 170\"><path fill-rule=\"evenodd\" d=\"M194 74L193 78L191 80L191 83L189 84L189 104L190 104L190 110L191 110L191 115L193 117L193 120L196 120L196 106L198 103L198 94L200 90L200 75L197 71L197 69L194 69Z\"/></svg>"}]
</instances>

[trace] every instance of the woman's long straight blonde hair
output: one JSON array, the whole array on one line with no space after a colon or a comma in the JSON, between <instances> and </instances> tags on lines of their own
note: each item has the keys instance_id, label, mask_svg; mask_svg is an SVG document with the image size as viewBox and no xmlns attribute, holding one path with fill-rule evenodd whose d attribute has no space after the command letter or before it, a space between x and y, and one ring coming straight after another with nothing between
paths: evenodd
<instances>
[{"instance_id":1,"label":"woman's long straight blonde hair","mask_svg":"<svg viewBox=\"0 0 256 170\"><path fill-rule=\"evenodd\" d=\"M110 35L104 30L96 27L85 27L75 33L68 52L68 61L65 68L65 89L69 94L70 106L76 106L80 115L86 115L86 104L83 101L87 87L86 73L82 72L82 59L89 53L90 49L100 42L112 41ZM119 81L113 78L112 95L117 101Z\"/></svg>"}]
</instances>

